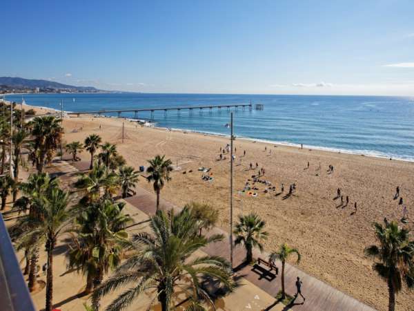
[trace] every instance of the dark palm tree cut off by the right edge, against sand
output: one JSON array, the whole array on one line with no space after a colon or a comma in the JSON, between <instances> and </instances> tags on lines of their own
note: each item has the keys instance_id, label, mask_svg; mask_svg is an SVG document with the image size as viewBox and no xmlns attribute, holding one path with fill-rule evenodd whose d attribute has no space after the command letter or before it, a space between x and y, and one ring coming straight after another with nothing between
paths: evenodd
<instances>
[{"instance_id":1,"label":"dark palm tree cut off by the right edge, against sand","mask_svg":"<svg viewBox=\"0 0 414 311\"><path fill-rule=\"evenodd\" d=\"M410 230L398 227L392 221L374 223L375 236L380 245L364 249L366 256L374 260L373 270L388 284L388 310L395 310L395 294L407 288L414 288L414 241L410 241Z\"/></svg>"}]
</instances>

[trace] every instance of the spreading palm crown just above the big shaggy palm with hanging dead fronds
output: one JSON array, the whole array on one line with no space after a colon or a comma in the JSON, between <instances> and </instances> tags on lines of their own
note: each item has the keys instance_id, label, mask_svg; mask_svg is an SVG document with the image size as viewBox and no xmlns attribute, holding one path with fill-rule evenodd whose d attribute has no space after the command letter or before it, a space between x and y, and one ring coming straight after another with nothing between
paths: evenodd
<instances>
[{"instance_id":1,"label":"spreading palm crown just above the big shaggy palm with hanging dead fronds","mask_svg":"<svg viewBox=\"0 0 414 311\"><path fill-rule=\"evenodd\" d=\"M111 198L119 188L118 176L108 172L105 164L95 162L91 171L79 177L75 187L85 189L89 201L99 200L102 190L106 198Z\"/></svg>"}]
</instances>

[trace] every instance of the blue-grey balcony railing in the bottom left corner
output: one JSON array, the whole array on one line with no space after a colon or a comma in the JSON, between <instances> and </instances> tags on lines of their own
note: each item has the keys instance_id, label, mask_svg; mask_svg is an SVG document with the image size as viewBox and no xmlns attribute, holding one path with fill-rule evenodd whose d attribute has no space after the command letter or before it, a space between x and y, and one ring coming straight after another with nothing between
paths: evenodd
<instances>
[{"instance_id":1,"label":"blue-grey balcony railing in the bottom left corner","mask_svg":"<svg viewBox=\"0 0 414 311\"><path fill-rule=\"evenodd\" d=\"M0 214L0 310L34 311L19 261Z\"/></svg>"}]
</instances>

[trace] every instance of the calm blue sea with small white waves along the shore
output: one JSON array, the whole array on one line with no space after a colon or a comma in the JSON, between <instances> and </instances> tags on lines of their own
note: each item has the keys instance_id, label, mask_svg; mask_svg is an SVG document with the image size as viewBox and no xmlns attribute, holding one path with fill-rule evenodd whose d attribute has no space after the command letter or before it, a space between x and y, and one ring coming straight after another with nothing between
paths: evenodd
<instances>
[{"instance_id":1,"label":"calm blue sea with small white waves along the shore","mask_svg":"<svg viewBox=\"0 0 414 311\"><path fill-rule=\"evenodd\" d=\"M203 104L264 104L264 111L235 112L235 134L239 137L284 144L304 144L414 160L414 97L309 96L309 95L199 95L199 94L33 94L28 104L66 111L135 109ZM75 98L75 102L73 102ZM7 100L21 102L21 95ZM133 113L125 114L133 117ZM141 113L140 119L149 119ZM158 126L229 135L226 110L155 112Z\"/></svg>"}]
</instances>

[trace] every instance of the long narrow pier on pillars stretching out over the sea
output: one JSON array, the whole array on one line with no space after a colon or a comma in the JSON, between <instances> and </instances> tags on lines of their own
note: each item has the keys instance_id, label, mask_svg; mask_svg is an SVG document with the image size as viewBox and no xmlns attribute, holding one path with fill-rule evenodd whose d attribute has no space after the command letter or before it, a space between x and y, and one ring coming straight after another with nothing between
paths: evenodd
<instances>
[{"instance_id":1,"label":"long narrow pier on pillars stretching out over the sea","mask_svg":"<svg viewBox=\"0 0 414 311\"><path fill-rule=\"evenodd\" d=\"M256 105L257 106L257 105ZM204 111L204 109L208 109L209 112L212 112L213 109L217 109L218 111L221 111L221 109L227 109L230 111L231 108L234 109L243 109L246 110L249 109L250 111L253 109L253 104L227 104L227 105L206 105L206 106L178 106L178 107L166 107L166 108L146 108L146 109L119 109L119 110L99 110L99 111L72 111L68 112L68 115L77 115L79 117L80 115L104 115L106 113L117 113L118 117L121 117L121 113L134 113L134 118L138 118L138 113L141 112L150 112L151 118L154 116L155 111L164 111L164 115L167 115L168 111L177 111L177 114L179 115L181 113L181 110L188 110L190 115L193 115L194 110L199 110L200 113ZM256 107L257 109L257 107Z\"/></svg>"}]
</instances>

